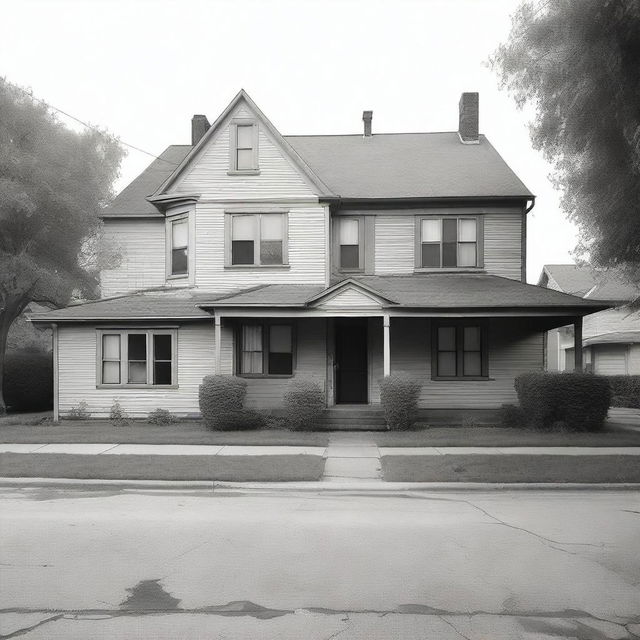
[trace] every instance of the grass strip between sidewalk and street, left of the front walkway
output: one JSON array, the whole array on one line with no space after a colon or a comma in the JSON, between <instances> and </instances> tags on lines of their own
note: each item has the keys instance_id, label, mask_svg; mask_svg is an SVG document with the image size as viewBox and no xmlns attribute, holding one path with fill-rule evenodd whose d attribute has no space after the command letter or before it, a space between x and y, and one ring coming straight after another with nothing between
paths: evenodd
<instances>
[{"instance_id":1,"label":"grass strip between sidewalk and street, left of the front walkway","mask_svg":"<svg viewBox=\"0 0 640 640\"><path fill-rule=\"evenodd\" d=\"M227 480L276 482L318 480L318 455L166 456L0 453L6 478L83 478L105 480Z\"/></svg>"}]
</instances>

